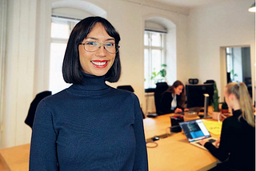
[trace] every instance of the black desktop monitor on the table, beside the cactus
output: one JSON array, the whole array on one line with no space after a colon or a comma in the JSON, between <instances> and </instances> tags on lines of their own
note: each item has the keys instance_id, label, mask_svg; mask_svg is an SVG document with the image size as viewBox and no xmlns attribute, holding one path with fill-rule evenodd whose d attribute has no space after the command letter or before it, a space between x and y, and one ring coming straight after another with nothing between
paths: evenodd
<instances>
[{"instance_id":1,"label":"black desktop monitor on the table, beside the cactus","mask_svg":"<svg viewBox=\"0 0 256 171\"><path fill-rule=\"evenodd\" d=\"M214 84L186 85L186 107L203 107L205 101L204 93L209 94L208 105L210 105L214 96Z\"/></svg>"}]
</instances>

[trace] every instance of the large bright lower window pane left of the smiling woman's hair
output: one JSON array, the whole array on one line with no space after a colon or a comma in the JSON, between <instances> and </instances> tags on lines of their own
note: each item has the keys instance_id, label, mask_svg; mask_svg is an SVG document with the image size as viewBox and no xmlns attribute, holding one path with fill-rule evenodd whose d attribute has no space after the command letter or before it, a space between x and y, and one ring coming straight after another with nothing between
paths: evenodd
<instances>
[{"instance_id":1,"label":"large bright lower window pane left of the smiling woman's hair","mask_svg":"<svg viewBox=\"0 0 256 171\"><path fill-rule=\"evenodd\" d=\"M66 84L62 77L62 62L66 50L66 43L50 43L50 84L52 93L57 93L66 89L70 84Z\"/></svg>"}]
</instances>

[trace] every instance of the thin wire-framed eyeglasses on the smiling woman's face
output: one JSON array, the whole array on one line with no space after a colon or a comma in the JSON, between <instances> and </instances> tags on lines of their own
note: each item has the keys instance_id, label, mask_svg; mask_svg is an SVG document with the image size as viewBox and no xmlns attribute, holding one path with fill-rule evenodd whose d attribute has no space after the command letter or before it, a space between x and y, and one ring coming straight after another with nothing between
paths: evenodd
<instances>
[{"instance_id":1,"label":"thin wire-framed eyeglasses on the smiling woman's face","mask_svg":"<svg viewBox=\"0 0 256 171\"><path fill-rule=\"evenodd\" d=\"M83 45L83 48L87 52L95 52L101 48L101 46L104 46L104 49L109 52L110 54L116 54L118 52L118 48L116 48L116 44L112 42L94 42L94 41L86 41L85 43L79 43L79 45Z\"/></svg>"}]
</instances>

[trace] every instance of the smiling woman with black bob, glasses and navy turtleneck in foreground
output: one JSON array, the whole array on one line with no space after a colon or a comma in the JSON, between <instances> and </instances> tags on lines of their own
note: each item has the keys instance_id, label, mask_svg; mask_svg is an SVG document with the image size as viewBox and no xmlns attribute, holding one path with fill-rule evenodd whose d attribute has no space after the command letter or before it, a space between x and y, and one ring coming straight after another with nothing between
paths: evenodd
<instances>
[{"instance_id":1,"label":"smiling woman with black bob, glasses and navy turtleneck in foreground","mask_svg":"<svg viewBox=\"0 0 256 171\"><path fill-rule=\"evenodd\" d=\"M38 105L31 171L148 170L138 97L105 83L120 78L119 41L104 18L74 26L62 66L73 85Z\"/></svg>"}]
</instances>

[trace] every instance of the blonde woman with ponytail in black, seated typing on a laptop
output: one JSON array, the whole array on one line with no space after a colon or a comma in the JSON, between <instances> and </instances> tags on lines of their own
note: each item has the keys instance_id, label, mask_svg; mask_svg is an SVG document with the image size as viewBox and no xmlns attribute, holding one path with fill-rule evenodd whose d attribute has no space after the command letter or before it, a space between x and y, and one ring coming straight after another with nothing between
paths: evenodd
<instances>
[{"instance_id":1,"label":"blonde woman with ponytail in black, seated typing on a laptop","mask_svg":"<svg viewBox=\"0 0 256 171\"><path fill-rule=\"evenodd\" d=\"M222 122L221 138L215 144L219 146L206 140L200 142L214 157L224 161L210 171L255 170L255 118L247 87L243 82L229 83L224 95L233 116Z\"/></svg>"}]
</instances>

